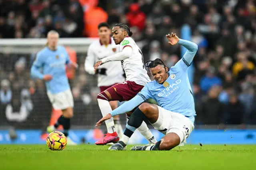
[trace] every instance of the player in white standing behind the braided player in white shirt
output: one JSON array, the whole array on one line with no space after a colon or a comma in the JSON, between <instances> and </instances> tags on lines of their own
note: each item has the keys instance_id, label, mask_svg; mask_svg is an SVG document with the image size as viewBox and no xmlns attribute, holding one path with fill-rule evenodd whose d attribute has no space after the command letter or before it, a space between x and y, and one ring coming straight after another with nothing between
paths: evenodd
<instances>
[{"instance_id":1,"label":"player in white standing behind the braided player in white shirt","mask_svg":"<svg viewBox=\"0 0 256 170\"><path fill-rule=\"evenodd\" d=\"M84 64L87 73L91 75L94 75L95 73L98 74L98 87L100 87L100 92L105 91L116 83L125 81L123 76L124 70L120 61L106 63L98 67L96 72L94 71L94 64L96 61L120 51L119 46L115 44L113 38L110 37L110 34L111 31L108 23L102 22L98 25L98 35L100 39L89 46ZM118 107L118 101L110 101L109 104L112 110ZM113 117L113 119L117 134L122 136L123 129L119 121L119 115Z\"/></svg>"}]
</instances>

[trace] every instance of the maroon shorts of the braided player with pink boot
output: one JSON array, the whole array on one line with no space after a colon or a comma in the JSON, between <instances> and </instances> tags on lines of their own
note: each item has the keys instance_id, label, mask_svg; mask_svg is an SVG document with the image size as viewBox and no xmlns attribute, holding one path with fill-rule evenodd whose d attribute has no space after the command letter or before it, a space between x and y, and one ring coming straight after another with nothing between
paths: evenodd
<instances>
[{"instance_id":1,"label":"maroon shorts of the braided player with pink boot","mask_svg":"<svg viewBox=\"0 0 256 170\"><path fill-rule=\"evenodd\" d=\"M109 101L128 101L135 97L141 91L143 85L138 85L133 81L118 83L106 89Z\"/></svg>"}]
</instances>

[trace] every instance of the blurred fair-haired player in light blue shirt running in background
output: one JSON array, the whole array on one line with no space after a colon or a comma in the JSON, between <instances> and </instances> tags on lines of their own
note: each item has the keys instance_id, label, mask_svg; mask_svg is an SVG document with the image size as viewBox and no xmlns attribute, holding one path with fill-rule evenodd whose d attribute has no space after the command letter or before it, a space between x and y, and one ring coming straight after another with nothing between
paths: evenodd
<instances>
[{"instance_id":1,"label":"blurred fair-haired player in light blue shirt running in background","mask_svg":"<svg viewBox=\"0 0 256 170\"><path fill-rule=\"evenodd\" d=\"M46 81L47 95L55 110L62 110L62 116L54 126L47 128L52 132L62 125L69 145L75 143L68 136L70 119L73 117L74 100L66 75L66 65L76 69L77 64L70 61L65 47L58 45L59 34L52 30L47 35L47 47L38 52L31 68L31 75ZM42 72L41 72L42 69Z\"/></svg>"}]
</instances>

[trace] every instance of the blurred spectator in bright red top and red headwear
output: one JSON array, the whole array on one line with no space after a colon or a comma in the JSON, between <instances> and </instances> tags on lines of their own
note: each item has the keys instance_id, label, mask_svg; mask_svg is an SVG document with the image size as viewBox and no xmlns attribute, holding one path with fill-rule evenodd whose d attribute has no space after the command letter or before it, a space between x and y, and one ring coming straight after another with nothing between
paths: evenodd
<instances>
[{"instance_id":1,"label":"blurred spectator in bright red top and red headwear","mask_svg":"<svg viewBox=\"0 0 256 170\"><path fill-rule=\"evenodd\" d=\"M144 29L146 24L146 15L140 11L140 6L137 3L134 3L130 6L130 12L126 14L128 23L131 27L136 26L141 31Z\"/></svg>"}]
</instances>

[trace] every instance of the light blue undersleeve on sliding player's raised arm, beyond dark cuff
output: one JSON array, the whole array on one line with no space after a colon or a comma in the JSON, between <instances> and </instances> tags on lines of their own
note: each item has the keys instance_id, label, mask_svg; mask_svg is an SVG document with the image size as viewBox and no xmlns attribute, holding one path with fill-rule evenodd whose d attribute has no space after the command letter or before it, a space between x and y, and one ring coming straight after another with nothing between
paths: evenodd
<instances>
[{"instance_id":1,"label":"light blue undersleeve on sliding player's raised arm, beyond dark cuff","mask_svg":"<svg viewBox=\"0 0 256 170\"><path fill-rule=\"evenodd\" d=\"M186 63L187 66L190 66L194 59L194 56L196 55L198 45L196 43L182 39L179 40L178 44L184 46L187 49L186 53L183 56L183 61L184 63Z\"/></svg>"}]
</instances>

